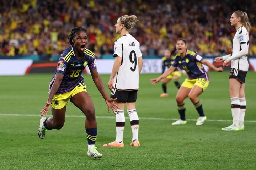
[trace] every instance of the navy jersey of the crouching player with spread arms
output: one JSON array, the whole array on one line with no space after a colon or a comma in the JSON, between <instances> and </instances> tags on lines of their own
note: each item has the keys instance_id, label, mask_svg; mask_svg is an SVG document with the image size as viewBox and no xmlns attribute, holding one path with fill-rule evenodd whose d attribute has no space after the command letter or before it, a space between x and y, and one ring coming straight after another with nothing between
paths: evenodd
<instances>
[{"instance_id":1,"label":"navy jersey of the crouching player with spread arms","mask_svg":"<svg viewBox=\"0 0 256 170\"><path fill-rule=\"evenodd\" d=\"M206 78L209 81L209 76L202 65L203 57L194 51L187 50L186 55L181 58L180 54L176 55L172 66L180 67L187 72L188 79Z\"/></svg>"}]
</instances>

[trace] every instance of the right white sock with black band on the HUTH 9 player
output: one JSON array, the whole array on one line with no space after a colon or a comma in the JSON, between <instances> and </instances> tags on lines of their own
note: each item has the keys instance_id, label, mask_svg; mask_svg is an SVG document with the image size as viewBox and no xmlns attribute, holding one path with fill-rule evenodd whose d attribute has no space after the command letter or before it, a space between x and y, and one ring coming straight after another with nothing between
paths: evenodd
<instances>
[{"instance_id":1,"label":"right white sock with black band on the HUTH 9 player","mask_svg":"<svg viewBox=\"0 0 256 170\"><path fill-rule=\"evenodd\" d=\"M136 109L127 110L130 117L130 124L132 128L133 138L132 141L138 140L139 135L139 117Z\"/></svg>"}]
</instances>

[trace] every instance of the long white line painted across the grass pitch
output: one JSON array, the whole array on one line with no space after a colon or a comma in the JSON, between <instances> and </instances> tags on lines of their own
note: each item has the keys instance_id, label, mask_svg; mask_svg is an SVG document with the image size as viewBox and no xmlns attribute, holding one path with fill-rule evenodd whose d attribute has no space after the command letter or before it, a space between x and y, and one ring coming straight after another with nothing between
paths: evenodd
<instances>
[{"instance_id":1,"label":"long white line painted across the grass pitch","mask_svg":"<svg viewBox=\"0 0 256 170\"><path fill-rule=\"evenodd\" d=\"M40 117L40 115L33 115L33 114L4 114L0 113L0 116L28 116L28 117ZM66 117L84 117L85 116L78 116L78 115L66 115ZM96 116L97 119L115 119L114 116ZM126 117L126 119L130 119ZM139 119L144 120L178 120L174 118L158 118L158 117L139 117ZM196 121L196 119L187 119L188 121ZM233 120L217 120L217 119L207 119L210 122L232 122ZM256 120L245 120L245 122L256 123Z\"/></svg>"}]
</instances>

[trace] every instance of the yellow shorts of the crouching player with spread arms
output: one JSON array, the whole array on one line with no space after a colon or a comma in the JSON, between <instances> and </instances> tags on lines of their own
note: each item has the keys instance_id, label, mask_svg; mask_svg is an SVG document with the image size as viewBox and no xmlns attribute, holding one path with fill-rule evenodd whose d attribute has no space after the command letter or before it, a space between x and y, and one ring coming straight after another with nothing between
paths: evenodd
<instances>
[{"instance_id":1,"label":"yellow shorts of the crouching player with spread arms","mask_svg":"<svg viewBox=\"0 0 256 170\"><path fill-rule=\"evenodd\" d=\"M185 81L181 84L183 87L192 88L193 86L199 86L203 89L203 91L209 86L209 82L206 78L197 78L197 79L185 79Z\"/></svg>"}]
</instances>

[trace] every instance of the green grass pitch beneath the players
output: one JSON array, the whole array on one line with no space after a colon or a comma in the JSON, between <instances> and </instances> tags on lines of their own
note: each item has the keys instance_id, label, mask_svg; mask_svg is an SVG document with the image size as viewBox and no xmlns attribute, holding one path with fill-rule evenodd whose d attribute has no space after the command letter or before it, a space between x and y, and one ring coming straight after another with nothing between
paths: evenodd
<instances>
[{"instance_id":1,"label":"green grass pitch beneath the players","mask_svg":"<svg viewBox=\"0 0 256 170\"><path fill-rule=\"evenodd\" d=\"M221 131L231 122L228 72L210 72L210 84L199 96L208 121L196 126L171 125L178 118L173 82L167 85L169 97L160 98L161 83L149 83L159 74L140 76L137 112L140 119L141 147L130 147L132 132L129 119L124 130L124 148L103 148L115 139L114 114L97 91L90 75L84 75L87 91L96 110L98 136L96 146L101 159L87 157L85 117L71 102L61 130L37 136L40 113L48 97L53 75L31 74L0 77L0 169L255 169L256 167L256 72L248 72L245 93L247 109L244 131ZM109 75L101 75L106 87ZM185 79L181 77L182 83ZM108 93L110 91L108 90ZM189 99L185 100L186 118L198 114ZM49 112L49 116L51 113ZM109 116L109 117L103 117ZM126 113L126 117L128 117ZM143 119L164 118L164 119ZM210 121L213 120L213 121Z\"/></svg>"}]
</instances>

